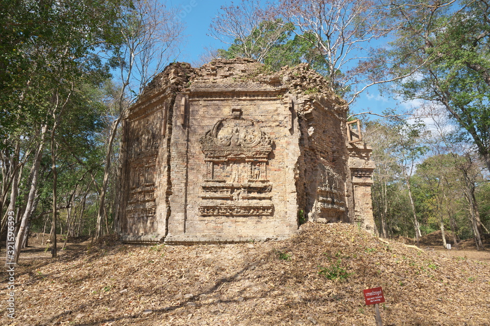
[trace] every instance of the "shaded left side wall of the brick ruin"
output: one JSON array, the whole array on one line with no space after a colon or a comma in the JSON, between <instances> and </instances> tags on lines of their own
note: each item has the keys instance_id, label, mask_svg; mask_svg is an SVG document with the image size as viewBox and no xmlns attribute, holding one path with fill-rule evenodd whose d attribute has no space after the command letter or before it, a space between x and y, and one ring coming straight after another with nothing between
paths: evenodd
<instances>
[{"instance_id":1,"label":"shaded left side wall of the brick ruin","mask_svg":"<svg viewBox=\"0 0 490 326\"><path fill-rule=\"evenodd\" d=\"M131 241L165 237L170 213L168 192L172 108L192 73L174 64L147 85L123 122L120 232Z\"/></svg>"}]
</instances>

